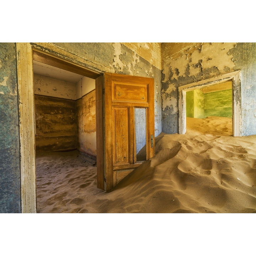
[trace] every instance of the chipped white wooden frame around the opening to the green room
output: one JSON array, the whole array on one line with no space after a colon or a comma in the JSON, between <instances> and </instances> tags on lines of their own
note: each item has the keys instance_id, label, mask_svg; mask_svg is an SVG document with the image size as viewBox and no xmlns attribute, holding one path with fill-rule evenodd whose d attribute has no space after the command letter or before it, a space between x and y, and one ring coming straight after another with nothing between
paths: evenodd
<instances>
[{"instance_id":1,"label":"chipped white wooden frame around the opening to the green room","mask_svg":"<svg viewBox=\"0 0 256 256\"><path fill-rule=\"evenodd\" d=\"M216 76L178 87L179 133L186 133L186 92L232 80L233 87L233 136L241 136L241 74L240 71Z\"/></svg>"}]
</instances>

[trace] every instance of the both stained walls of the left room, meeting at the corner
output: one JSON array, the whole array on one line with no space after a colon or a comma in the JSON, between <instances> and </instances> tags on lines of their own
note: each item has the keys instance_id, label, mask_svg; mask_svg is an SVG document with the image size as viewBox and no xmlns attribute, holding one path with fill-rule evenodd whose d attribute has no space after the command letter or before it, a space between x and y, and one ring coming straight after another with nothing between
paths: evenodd
<instances>
[{"instance_id":1,"label":"both stained walls of the left room, meeting at the corner","mask_svg":"<svg viewBox=\"0 0 256 256\"><path fill-rule=\"evenodd\" d=\"M96 156L95 80L34 74L36 151L78 149Z\"/></svg>"}]
</instances>

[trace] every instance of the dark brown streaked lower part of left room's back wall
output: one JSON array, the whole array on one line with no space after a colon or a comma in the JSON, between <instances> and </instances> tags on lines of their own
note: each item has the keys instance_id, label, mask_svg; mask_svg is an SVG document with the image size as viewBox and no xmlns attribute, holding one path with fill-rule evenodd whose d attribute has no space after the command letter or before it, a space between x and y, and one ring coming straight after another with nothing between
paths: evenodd
<instances>
[{"instance_id":1,"label":"dark brown streaked lower part of left room's back wall","mask_svg":"<svg viewBox=\"0 0 256 256\"><path fill-rule=\"evenodd\" d=\"M77 148L76 101L34 96L36 151L65 151Z\"/></svg>"}]
</instances>

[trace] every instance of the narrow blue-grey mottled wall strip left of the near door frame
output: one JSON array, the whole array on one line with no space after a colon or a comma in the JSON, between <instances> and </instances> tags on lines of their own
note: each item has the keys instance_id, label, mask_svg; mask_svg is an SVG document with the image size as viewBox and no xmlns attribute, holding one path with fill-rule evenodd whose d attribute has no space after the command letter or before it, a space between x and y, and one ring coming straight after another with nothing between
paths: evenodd
<instances>
[{"instance_id":1,"label":"narrow blue-grey mottled wall strip left of the near door frame","mask_svg":"<svg viewBox=\"0 0 256 256\"><path fill-rule=\"evenodd\" d=\"M15 43L0 43L0 213L20 213L20 143Z\"/></svg>"}]
</instances>

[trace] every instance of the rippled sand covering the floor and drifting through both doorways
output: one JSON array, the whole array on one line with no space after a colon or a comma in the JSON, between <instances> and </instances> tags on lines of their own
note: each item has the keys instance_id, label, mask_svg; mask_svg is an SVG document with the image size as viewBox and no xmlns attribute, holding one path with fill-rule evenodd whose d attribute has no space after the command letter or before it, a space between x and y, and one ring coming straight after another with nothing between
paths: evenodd
<instances>
[{"instance_id":1,"label":"rippled sand covering the floor and drifting through both doorways","mask_svg":"<svg viewBox=\"0 0 256 256\"><path fill-rule=\"evenodd\" d=\"M188 118L186 134L161 133L155 156L110 193L77 151L37 154L37 211L256 213L256 135L231 134L230 118Z\"/></svg>"}]
</instances>

